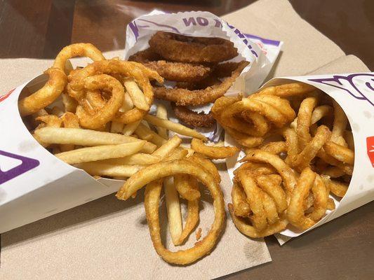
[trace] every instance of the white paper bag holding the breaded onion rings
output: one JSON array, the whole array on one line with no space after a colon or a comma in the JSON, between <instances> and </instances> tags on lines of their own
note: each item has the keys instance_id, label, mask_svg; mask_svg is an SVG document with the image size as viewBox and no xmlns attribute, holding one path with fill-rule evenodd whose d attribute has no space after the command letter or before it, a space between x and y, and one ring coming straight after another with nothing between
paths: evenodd
<instances>
[{"instance_id":1,"label":"white paper bag holding the breaded onion rings","mask_svg":"<svg viewBox=\"0 0 374 280\"><path fill-rule=\"evenodd\" d=\"M239 52L238 57L234 57L232 61L245 59L251 63L243 69L227 94L243 92L244 89L256 90L272 69L283 44L281 41L243 34L239 29L209 12L192 11L169 14L154 10L152 13L136 18L128 25L125 59L128 59L135 52L149 48L148 41L156 31L166 31L186 36L225 38L232 41ZM168 81L166 81L166 85L168 84ZM179 122L177 118L173 118L171 107L167 106L167 108L171 120ZM190 109L208 113L211 110L211 105L190 107ZM212 141L218 141L222 132L219 126L196 130Z\"/></svg>"}]
</instances>

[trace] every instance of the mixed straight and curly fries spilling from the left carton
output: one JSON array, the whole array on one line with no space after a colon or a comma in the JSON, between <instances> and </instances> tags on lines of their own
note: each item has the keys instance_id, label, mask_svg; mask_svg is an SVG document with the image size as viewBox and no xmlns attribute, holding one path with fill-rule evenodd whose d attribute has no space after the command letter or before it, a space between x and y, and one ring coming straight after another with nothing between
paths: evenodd
<instances>
[{"instance_id":1,"label":"mixed straight and curly fries spilling from the left carton","mask_svg":"<svg viewBox=\"0 0 374 280\"><path fill-rule=\"evenodd\" d=\"M94 62L72 69L68 59L75 56L87 56ZM186 265L207 255L225 221L220 175L210 159L227 158L239 149L204 144L202 134L168 120L161 104L157 105L156 116L150 115L153 91L149 80L162 83L162 78L137 62L105 59L95 46L77 43L63 48L46 73L49 80L44 87L19 101L20 114L36 141L96 179L127 179L116 194L120 200L135 197L142 186L147 186L149 231L156 252L164 260ZM175 134L170 139L169 131ZM181 146L177 134L192 137L192 148ZM214 200L211 230L193 248L168 251L160 237L161 188L171 238L179 246L199 223L199 182ZM181 199L187 202L184 227ZM196 232L199 235L201 228Z\"/></svg>"}]
</instances>

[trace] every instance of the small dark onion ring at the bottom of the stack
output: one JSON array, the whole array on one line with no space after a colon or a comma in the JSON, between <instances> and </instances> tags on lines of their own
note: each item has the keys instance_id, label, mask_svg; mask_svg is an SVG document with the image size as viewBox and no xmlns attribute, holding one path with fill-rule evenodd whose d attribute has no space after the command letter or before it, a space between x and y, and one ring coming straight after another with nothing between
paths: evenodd
<instances>
[{"instance_id":1,"label":"small dark onion ring at the bottom of the stack","mask_svg":"<svg viewBox=\"0 0 374 280\"><path fill-rule=\"evenodd\" d=\"M171 104L175 117L182 120L183 123L191 125L192 127L211 127L214 125L215 120L211 112L209 113L197 113L189 110L185 106L176 106L174 103Z\"/></svg>"}]
</instances>

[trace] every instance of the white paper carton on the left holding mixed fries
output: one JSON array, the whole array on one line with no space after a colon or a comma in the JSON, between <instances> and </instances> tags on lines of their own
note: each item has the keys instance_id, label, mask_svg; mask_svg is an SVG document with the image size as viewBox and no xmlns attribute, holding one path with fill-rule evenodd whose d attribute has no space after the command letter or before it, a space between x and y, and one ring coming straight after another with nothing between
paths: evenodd
<instances>
[{"instance_id":1,"label":"white paper carton on the left holding mixed fries","mask_svg":"<svg viewBox=\"0 0 374 280\"><path fill-rule=\"evenodd\" d=\"M116 192L123 182L95 180L62 162L32 137L18 113L18 97L46 82L41 75L0 97L0 232Z\"/></svg>"}]
</instances>

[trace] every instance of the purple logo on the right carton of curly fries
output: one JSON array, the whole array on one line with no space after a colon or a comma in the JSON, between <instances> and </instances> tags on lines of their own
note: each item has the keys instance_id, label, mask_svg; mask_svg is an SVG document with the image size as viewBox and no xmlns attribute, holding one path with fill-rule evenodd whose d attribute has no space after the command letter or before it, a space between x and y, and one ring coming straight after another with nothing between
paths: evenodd
<instances>
[{"instance_id":1,"label":"purple logo on the right carton of curly fries","mask_svg":"<svg viewBox=\"0 0 374 280\"><path fill-rule=\"evenodd\" d=\"M356 99L366 100L374 106L374 74L354 73L348 76L334 75L332 78L309 79L312 82L330 85L345 90Z\"/></svg>"}]
</instances>

